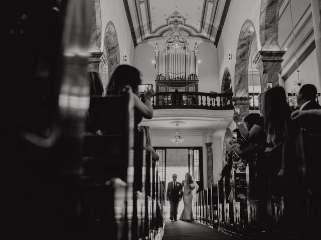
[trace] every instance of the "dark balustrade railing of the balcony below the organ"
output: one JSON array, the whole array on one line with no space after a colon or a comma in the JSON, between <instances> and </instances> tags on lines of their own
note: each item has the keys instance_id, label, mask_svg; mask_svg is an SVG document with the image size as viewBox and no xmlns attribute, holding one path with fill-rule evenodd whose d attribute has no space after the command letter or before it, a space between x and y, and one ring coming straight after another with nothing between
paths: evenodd
<instances>
[{"instance_id":1,"label":"dark balustrade railing of the balcony below the organ","mask_svg":"<svg viewBox=\"0 0 321 240\"><path fill-rule=\"evenodd\" d=\"M195 91L156 92L151 99L154 109L198 108L213 110L233 109L233 93L207 93Z\"/></svg>"}]
</instances>

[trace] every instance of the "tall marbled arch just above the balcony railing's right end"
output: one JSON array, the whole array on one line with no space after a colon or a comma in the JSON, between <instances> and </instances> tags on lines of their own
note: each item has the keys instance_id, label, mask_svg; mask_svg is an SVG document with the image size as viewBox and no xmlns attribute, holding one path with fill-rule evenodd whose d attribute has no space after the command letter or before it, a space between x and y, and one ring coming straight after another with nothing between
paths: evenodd
<instances>
[{"instance_id":1,"label":"tall marbled arch just above the balcony railing's right end","mask_svg":"<svg viewBox=\"0 0 321 240\"><path fill-rule=\"evenodd\" d=\"M256 37L253 22L251 20L246 20L240 31L236 50L234 92L237 97L247 97L249 95L248 69L250 49L252 48L252 44L257 47ZM254 57L253 54L252 57Z\"/></svg>"}]
</instances>

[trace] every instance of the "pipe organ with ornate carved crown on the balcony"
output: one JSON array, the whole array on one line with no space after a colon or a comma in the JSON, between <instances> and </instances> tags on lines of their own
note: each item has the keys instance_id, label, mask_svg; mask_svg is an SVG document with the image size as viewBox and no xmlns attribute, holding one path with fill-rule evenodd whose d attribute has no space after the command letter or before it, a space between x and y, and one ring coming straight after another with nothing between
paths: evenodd
<instances>
[{"instance_id":1,"label":"pipe organ with ornate carved crown on the balcony","mask_svg":"<svg viewBox=\"0 0 321 240\"><path fill-rule=\"evenodd\" d=\"M186 39L179 35L170 37L162 51L156 43L156 91L198 91L199 48L195 43L190 50L188 44Z\"/></svg>"}]
</instances>

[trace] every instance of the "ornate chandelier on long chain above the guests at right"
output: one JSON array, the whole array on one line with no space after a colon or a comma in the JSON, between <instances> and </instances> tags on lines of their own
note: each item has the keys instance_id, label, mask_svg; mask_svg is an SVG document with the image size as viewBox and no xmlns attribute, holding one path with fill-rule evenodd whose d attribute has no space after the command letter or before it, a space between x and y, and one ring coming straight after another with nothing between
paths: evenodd
<instances>
[{"instance_id":1,"label":"ornate chandelier on long chain above the guests at right","mask_svg":"<svg viewBox=\"0 0 321 240\"><path fill-rule=\"evenodd\" d=\"M289 1L289 5L290 5L290 13L291 13L291 24L292 24L293 44L294 44L294 53L295 53L296 73L297 73L297 80L295 80L293 83L294 83L294 85L298 86L298 88L300 89L301 85L303 85L305 82L303 79L300 79L300 75L299 75L300 71L299 71L299 65L297 62L297 51L296 51L296 44L295 44L295 34L294 34L294 26L293 26L293 15L292 15L291 1ZM291 92L288 93L287 101L288 101L289 105L293 108L298 107L297 94L298 94L298 91L295 88L292 88Z\"/></svg>"}]
</instances>

